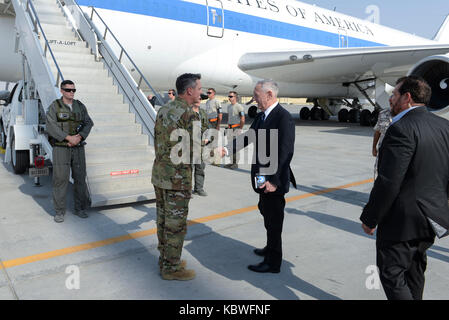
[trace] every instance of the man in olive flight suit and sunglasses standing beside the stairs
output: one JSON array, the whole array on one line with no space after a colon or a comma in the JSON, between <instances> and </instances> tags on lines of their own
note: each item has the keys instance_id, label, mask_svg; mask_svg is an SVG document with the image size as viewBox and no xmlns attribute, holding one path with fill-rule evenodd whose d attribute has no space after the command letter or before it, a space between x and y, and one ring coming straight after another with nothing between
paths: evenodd
<instances>
[{"instance_id":1,"label":"man in olive flight suit and sunglasses standing beside the stairs","mask_svg":"<svg viewBox=\"0 0 449 320\"><path fill-rule=\"evenodd\" d=\"M55 100L47 112L47 132L53 146L53 204L56 212L54 220L57 223L64 221L70 169L74 180L74 213L80 218L88 217L85 212L89 205L89 194L84 140L94 123L86 106L74 99L75 92L72 81L63 81L61 99Z\"/></svg>"}]
</instances>

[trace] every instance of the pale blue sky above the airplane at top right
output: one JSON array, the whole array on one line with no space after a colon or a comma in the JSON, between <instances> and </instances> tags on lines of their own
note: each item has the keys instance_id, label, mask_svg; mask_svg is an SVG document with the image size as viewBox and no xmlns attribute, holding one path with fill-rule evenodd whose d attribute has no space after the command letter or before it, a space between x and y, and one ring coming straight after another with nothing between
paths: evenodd
<instances>
[{"instance_id":1,"label":"pale blue sky above the airplane at top right","mask_svg":"<svg viewBox=\"0 0 449 320\"><path fill-rule=\"evenodd\" d=\"M446 15L449 14L449 0L300 0L309 4L365 19L370 14L365 10L370 5L379 8L380 24L433 38Z\"/></svg>"}]
</instances>

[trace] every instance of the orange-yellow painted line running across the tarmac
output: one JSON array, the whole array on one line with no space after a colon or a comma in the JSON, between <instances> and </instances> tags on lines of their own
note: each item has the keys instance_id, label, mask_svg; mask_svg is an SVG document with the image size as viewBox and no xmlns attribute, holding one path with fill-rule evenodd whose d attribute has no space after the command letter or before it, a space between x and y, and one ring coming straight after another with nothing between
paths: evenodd
<instances>
[{"instance_id":1,"label":"orange-yellow painted line running across the tarmac","mask_svg":"<svg viewBox=\"0 0 449 320\"><path fill-rule=\"evenodd\" d=\"M315 197L315 196L335 192L338 190L349 189L352 187L372 183L373 181L374 181L373 179L368 179L368 180L353 182L353 183L345 184L345 185L342 185L339 187L327 188L327 189L317 190L317 191L311 192L311 193L306 193L306 194L302 194L302 195L298 195L298 196L289 197L289 198L286 198L285 200L287 203L299 201L299 200L307 199L310 197ZM250 206L250 207L246 207L246 208L226 211L226 212L210 215L210 216L203 217L203 218L198 218L195 220L188 220L187 225L192 226L195 224L203 224L203 223L207 223L209 221L219 220L219 219L255 211L257 209L258 209L257 206ZM17 266L21 266L21 265L25 265L25 264L29 264L29 263L33 263L33 262L48 260L48 259L56 258L56 257L60 257L60 256L65 256L65 255L73 254L73 253L80 252L80 251L86 251L86 250L90 250L90 249L104 247L104 246L108 246L111 244L124 242L127 240L139 239L139 238L147 237L147 236L150 236L150 235L153 235L156 233L157 233L157 228L153 228L153 229L148 229L148 230L143 230L143 231L138 231L138 232L122 235L119 237L90 242L90 243L86 243L86 244L82 244L82 245L78 245L78 246L59 249L59 250L48 251L48 252L44 252L44 253L39 253L39 254L23 257L23 258L17 258L17 259L12 259L12 260L8 260L8 261L3 261L3 263L0 265L0 270L17 267Z\"/></svg>"}]
</instances>

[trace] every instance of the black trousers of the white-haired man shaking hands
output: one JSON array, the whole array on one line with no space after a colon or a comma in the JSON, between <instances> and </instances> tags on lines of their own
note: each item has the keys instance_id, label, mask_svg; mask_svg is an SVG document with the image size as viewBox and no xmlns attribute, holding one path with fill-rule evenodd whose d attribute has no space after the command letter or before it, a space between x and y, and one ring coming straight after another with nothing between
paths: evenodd
<instances>
[{"instance_id":1,"label":"black trousers of the white-haired man shaking hands","mask_svg":"<svg viewBox=\"0 0 449 320\"><path fill-rule=\"evenodd\" d=\"M273 268L280 268L282 263L282 226L284 223L285 198L283 194L260 194L260 213L267 230L265 260Z\"/></svg>"}]
</instances>

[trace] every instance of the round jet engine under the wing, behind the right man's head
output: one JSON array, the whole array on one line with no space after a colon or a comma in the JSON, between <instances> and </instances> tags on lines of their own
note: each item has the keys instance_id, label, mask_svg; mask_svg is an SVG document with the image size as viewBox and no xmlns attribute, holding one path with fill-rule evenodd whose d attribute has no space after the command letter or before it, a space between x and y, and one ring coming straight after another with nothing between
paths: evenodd
<instances>
[{"instance_id":1,"label":"round jet engine under the wing, behind the right man's head","mask_svg":"<svg viewBox=\"0 0 449 320\"><path fill-rule=\"evenodd\" d=\"M449 107L449 53L427 57L418 62L409 75L424 78L432 88L432 109L442 110Z\"/></svg>"}]
</instances>

